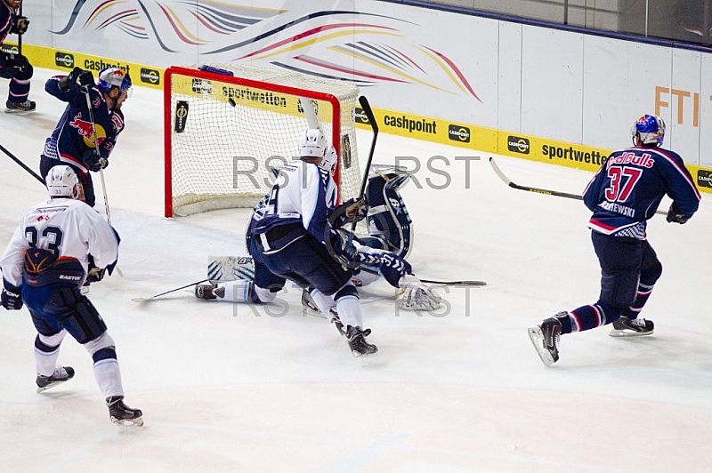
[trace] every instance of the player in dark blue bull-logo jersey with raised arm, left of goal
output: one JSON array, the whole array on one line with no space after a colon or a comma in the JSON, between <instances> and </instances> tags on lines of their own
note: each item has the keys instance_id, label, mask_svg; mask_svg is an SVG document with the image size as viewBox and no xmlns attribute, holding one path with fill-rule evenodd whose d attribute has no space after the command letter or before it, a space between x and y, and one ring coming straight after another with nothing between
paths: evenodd
<instances>
[{"instance_id":1,"label":"player in dark blue bull-logo jersey with raised arm, left of goal","mask_svg":"<svg viewBox=\"0 0 712 473\"><path fill-rule=\"evenodd\" d=\"M118 133L124 130L121 106L131 94L131 77L120 68L103 68L99 83L94 84L92 71L74 68L68 76L50 77L44 90L67 102L67 108L44 143L40 172L44 177L53 166L68 164L77 172L86 204L93 206L96 197L89 172L99 172L109 165ZM93 122L87 108L87 93Z\"/></svg>"}]
</instances>

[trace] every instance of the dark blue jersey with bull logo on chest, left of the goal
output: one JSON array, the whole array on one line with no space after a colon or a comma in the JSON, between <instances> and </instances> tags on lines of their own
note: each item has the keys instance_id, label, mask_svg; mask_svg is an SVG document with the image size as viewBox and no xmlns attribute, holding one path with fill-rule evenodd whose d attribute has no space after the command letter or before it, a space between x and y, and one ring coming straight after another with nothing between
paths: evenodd
<instances>
[{"instance_id":1,"label":"dark blue jersey with bull logo on chest, left of the goal","mask_svg":"<svg viewBox=\"0 0 712 473\"><path fill-rule=\"evenodd\" d=\"M62 76L53 76L44 84L44 90L59 100L67 102L57 127L52 136L44 143L44 156L63 163L77 166L82 172L88 172L83 156L85 151L93 149L92 121L86 108L83 90L63 91L60 88ZM120 110L109 110L101 91L93 86L89 89L92 101L96 139L99 141L101 156L109 159L109 154L117 142L118 133L124 129L124 114Z\"/></svg>"}]
</instances>

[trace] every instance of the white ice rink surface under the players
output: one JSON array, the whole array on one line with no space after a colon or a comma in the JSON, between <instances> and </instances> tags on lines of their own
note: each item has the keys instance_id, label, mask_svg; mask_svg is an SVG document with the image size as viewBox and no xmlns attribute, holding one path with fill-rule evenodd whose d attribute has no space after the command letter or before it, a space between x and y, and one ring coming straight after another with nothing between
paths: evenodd
<instances>
[{"instance_id":1,"label":"white ice rink surface under the players","mask_svg":"<svg viewBox=\"0 0 712 473\"><path fill-rule=\"evenodd\" d=\"M35 113L0 113L0 144L35 170L64 108L44 92L52 74L36 69ZM184 291L131 301L206 277L208 255L245 254L248 210L163 218L162 107L161 92L142 87L125 102L125 131L105 171L124 277L88 294L117 341L126 404L143 410L145 425L109 422L91 357L69 337L59 363L76 377L36 394L28 311L0 309L3 471L712 471L708 194L684 226L661 216L648 226L664 266L643 310L655 334L566 335L561 360L546 368L527 327L598 298L590 212L507 188L489 155L382 133L375 163L421 163L402 190L417 275L488 285L439 289L447 305L438 315L399 312L384 282L364 288L368 340L379 348L364 364L325 319L303 317L295 289L280 294L281 306L259 309ZM359 130L362 162L370 137ZM620 147L628 142L620 130ZM480 159L468 170L456 156ZM497 159L522 185L580 193L592 177ZM47 197L9 158L0 163L4 250L20 215Z\"/></svg>"}]
</instances>

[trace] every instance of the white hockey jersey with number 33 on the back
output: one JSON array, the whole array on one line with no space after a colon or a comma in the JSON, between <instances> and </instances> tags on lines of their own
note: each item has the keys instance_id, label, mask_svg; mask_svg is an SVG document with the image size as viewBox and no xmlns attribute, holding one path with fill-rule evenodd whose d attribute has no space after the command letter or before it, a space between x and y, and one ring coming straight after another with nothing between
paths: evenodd
<instances>
[{"instance_id":1,"label":"white hockey jersey with number 33 on the back","mask_svg":"<svg viewBox=\"0 0 712 473\"><path fill-rule=\"evenodd\" d=\"M0 269L11 285L22 285L25 252L30 247L76 258L86 272L89 254L94 265L106 268L118 259L117 235L92 207L79 200L55 198L25 212L7 245ZM84 279L80 284L84 283Z\"/></svg>"}]
</instances>

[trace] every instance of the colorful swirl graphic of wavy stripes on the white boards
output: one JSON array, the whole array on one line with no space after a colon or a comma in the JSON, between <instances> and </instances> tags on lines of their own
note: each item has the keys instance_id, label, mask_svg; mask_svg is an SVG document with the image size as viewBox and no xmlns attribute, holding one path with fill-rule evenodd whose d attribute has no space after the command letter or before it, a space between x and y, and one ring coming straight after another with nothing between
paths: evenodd
<instances>
[{"instance_id":1,"label":"colorful swirl graphic of wavy stripes on the white boards","mask_svg":"<svg viewBox=\"0 0 712 473\"><path fill-rule=\"evenodd\" d=\"M419 84L481 101L456 60L402 30L418 27L408 20L353 11L285 13L214 0L77 0L52 33L113 30L165 52L199 47L206 62L249 61L360 87Z\"/></svg>"}]
</instances>

